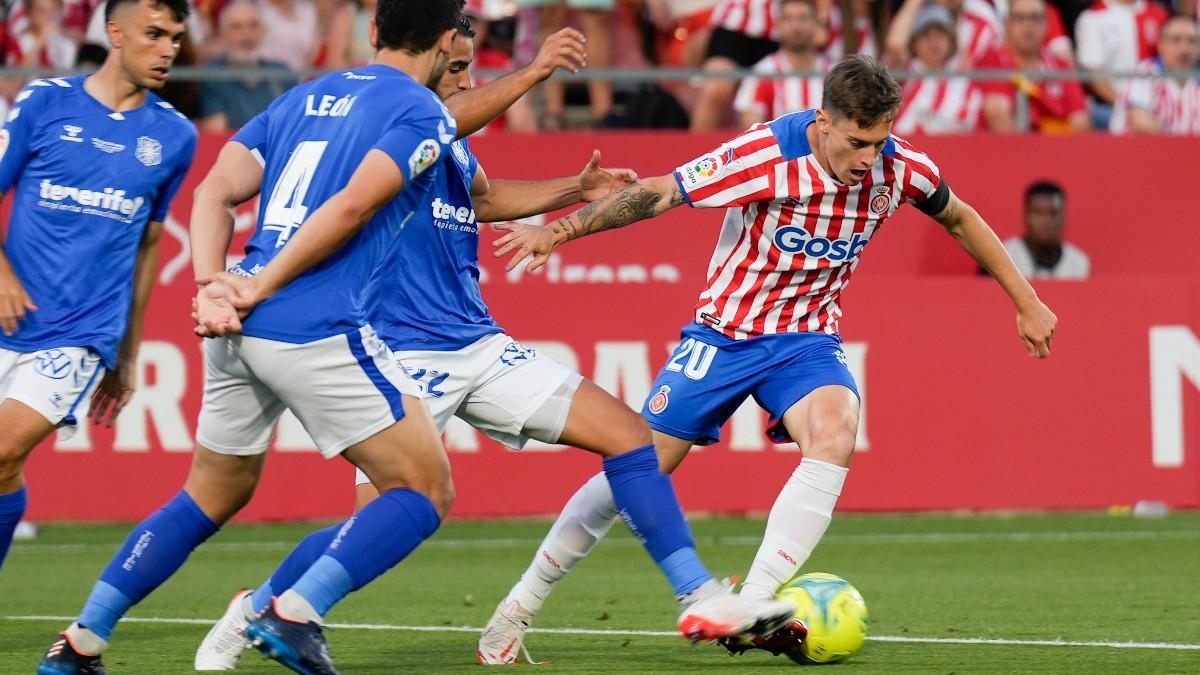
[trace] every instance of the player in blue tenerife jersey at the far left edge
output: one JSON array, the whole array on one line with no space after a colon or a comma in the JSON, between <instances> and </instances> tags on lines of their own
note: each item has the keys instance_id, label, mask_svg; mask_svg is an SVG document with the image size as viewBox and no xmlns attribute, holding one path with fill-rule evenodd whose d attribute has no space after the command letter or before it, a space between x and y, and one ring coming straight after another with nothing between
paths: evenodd
<instances>
[{"instance_id":1,"label":"player in blue tenerife jersey at the far left edge","mask_svg":"<svg viewBox=\"0 0 1200 675\"><path fill-rule=\"evenodd\" d=\"M89 76L35 79L0 130L0 565L25 510L22 466L55 428L109 424L133 393L167 208L196 129L156 96L185 0L109 0L113 50Z\"/></svg>"}]
</instances>

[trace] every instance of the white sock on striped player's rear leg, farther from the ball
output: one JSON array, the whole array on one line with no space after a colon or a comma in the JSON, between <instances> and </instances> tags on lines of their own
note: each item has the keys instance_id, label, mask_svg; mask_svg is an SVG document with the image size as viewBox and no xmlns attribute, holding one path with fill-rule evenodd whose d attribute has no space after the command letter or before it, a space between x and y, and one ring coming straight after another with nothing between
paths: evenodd
<instances>
[{"instance_id":1,"label":"white sock on striped player's rear leg, farther from the ball","mask_svg":"<svg viewBox=\"0 0 1200 675\"><path fill-rule=\"evenodd\" d=\"M568 500L505 604L517 601L536 614L554 584L595 548L616 520L617 502L608 479L604 472L596 473Z\"/></svg>"}]
</instances>

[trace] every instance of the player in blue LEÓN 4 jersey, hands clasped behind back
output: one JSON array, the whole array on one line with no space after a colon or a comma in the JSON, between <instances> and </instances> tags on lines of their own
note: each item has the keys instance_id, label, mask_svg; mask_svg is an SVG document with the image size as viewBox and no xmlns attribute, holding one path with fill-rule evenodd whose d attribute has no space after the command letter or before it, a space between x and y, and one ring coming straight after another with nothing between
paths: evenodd
<instances>
[{"instance_id":1,"label":"player in blue LE\u00d3N 4 jersey, hands clasped behind back","mask_svg":"<svg viewBox=\"0 0 1200 675\"><path fill-rule=\"evenodd\" d=\"M286 408L324 456L361 468L380 496L250 627L265 653L335 673L322 616L438 528L454 498L449 461L359 295L455 138L428 86L461 11L461 0L383 0L371 24L376 64L292 89L222 149L191 222L197 330L212 336L191 472L134 527L40 673L102 671L120 617L251 498ZM223 273L232 207L259 192L246 257Z\"/></svg>"}]
</instances>

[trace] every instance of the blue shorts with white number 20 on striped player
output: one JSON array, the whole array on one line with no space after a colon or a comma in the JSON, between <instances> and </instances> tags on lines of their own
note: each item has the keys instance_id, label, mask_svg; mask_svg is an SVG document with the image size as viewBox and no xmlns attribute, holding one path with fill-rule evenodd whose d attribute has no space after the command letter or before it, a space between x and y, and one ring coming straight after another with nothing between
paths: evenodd
<instances>
[{"instance_id":1,"label":"blue shorts with white number 20 on striped player","mask_svg":"<svg viewBox=\"0 0 1200 675\"><path fill-rule=\"evenodd\" d=\"M650 387L642 416L652 429L708 446L721 440L721 426L746 396L754 396L770 413L767 435L781 443L792 440L782 424L787 408L827 384L859 395L838 335L786 333L733 340L692 323L679 334L679 347Z\"/></svg>"}]
</instances>

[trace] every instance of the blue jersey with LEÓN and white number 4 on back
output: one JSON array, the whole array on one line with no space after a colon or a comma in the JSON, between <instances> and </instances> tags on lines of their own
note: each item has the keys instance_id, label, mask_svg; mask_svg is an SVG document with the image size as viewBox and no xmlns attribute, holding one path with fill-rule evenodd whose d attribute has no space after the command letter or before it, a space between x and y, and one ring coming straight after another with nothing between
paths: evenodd
<instances>
[{"instance_id":1,"label":"blue jersey with LE\u00d3N and white number 4 on back","mask_svg":"<svg viewBox=\"0 0 1200 675\"><path fill-rule=\"evenodd\" d=\"M425 203L432 172L456 133L454 117L427 88L380 64L293 88L233 141L263 160L258 227L232 270L253 276L305 220L346 187L371 150L386 153L404 189L341 249L258 305L242 333L311 342L366 323L361 295L371 273Z\"/></svg>"}]
</instances>

